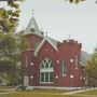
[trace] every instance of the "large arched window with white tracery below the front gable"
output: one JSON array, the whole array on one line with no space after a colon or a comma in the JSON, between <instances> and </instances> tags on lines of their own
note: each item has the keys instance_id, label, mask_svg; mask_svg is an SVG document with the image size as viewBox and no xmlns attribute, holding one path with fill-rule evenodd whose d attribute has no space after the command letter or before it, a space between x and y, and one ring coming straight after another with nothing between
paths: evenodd
<instances>
[{"instance_id":1,"label":"large arched window with white tracery below the front gable","mask_svg":"<svg viewBox=\"0 0 97 97\"><path fill-rule=\"evenodd\" d=\"M54 78L54 65L51 58L44 58L40 67L40 82L51 83Z\"/></svg>"}]
</instances>

